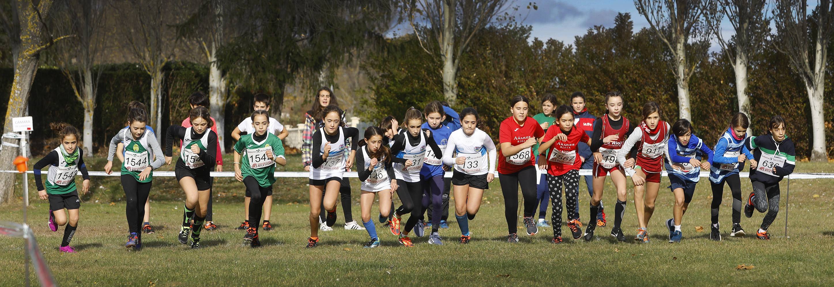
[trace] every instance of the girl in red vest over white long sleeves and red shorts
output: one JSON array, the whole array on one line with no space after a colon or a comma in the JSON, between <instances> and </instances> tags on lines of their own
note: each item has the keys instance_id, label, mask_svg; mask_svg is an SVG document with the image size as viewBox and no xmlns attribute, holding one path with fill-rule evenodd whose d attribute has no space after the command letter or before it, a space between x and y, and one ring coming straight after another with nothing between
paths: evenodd
<instances>
[{"instance_id":1,"label":"girl in red vest over white long sleeves and red shorts","mask_svg":"<svg viewBox=\"0 0 834 287\"><path fill-rule=\"evenodd\" d=\"M649 242L649 225L651 215L655 212L657 191L661 188L661 171L663 159L669 158L669 123L661 120L661 106L654 101L643 105L643 121L625 140L622 149L617 152L617 161L624 162L625 172L631 175L634 183L634 205L637 209L637 221L640 228L634 240L639 243ZM625 163L625 155L632 146L639 146L634 165Z\"/></svg>"}]
</instances>

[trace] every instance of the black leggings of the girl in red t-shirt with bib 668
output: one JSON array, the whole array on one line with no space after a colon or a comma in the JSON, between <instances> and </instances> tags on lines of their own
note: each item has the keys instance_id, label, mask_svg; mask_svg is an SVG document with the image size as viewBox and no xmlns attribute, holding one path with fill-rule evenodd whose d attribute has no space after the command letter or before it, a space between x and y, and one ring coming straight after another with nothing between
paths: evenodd
<instances>
[{"instance_id":1,"label":"black leggings of the girl in red t-shirt with bib 668","mask_svg":"<svg viewBox=\"0 0 834 287\"><path fill-rule=\"evenodd\" d=\"M510 234L518 231L515 224L518 223L519 185L521 185L521 195L524 197L524 216L533 216L539 205L539 200L536 200L535 196L535 176L538 175L533 166L527 166L509 175L498 174L498 179L501 181L501 193L504 194L504 215L507 218L507 230Z\"/></svg>"}]
</instances>

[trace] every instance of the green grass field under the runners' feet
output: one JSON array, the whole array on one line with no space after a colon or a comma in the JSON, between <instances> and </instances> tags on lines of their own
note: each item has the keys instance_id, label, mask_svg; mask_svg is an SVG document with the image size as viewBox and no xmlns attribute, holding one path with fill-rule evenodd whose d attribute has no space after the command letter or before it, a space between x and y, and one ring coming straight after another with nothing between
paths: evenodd
<instances>
[{"instance_id":1,"label":"green grass field under the runners' feet","mask_svg":"<svg viewBox=\"0 0 834 287\"><path fill-rule=\"evenodd\" d=\"M298 162L295 157L298 156L291 156L289 161ZM103 166L101 159L87 161L94 171L100 171ZM800 162L797 172L825 172L832 168L831 163ZM288 166L284 170L299 171L300 166ZM711 191L706 181L702 181L684 217L684 240L680 244L667 243L668 233L663 222L671 217L672 196L668 189L661 188L656 215L649 227L652 234L649 244L615 243L608 235L613 225L613 209L610 209L607 210L610 224L597 228L598 240L571 240L570 230L563 227L566 239L561 245L549 243L550 229L540 229L535 236L522 235L519 244L510 245L504 242L507 232L500 187L493 182L477 218L470 222L473 240L469 245L456 242L460 230L453 216L450 229L440 231L446 245L428 245L428 237L424 237L414 240L414 248L406 249L397 245L394 235L378 224L383 245L363 249L367 234L342 229L343 213L339 210L335 230L319 233L319 247L307 250L304 249L309 236L306 179L279 179L272 215L275 230L261 233L263 248L250 249L241 245L243 233L234 230L243 220L243 185L224 178L215 180L218 196L214 220L220 230L203 231L203 249L190 250L176 240L182 218L182 192L173 178L158 178L154 180L151 195L151 220L157 233L143 236L145 248L140 252L122 247L127 227L118 181L101 177L93 180L94 192L83 197L81 220L73 239L78 254L58 253L63 228L58 232L49 231L48 204L30 195L33 205L28 223L33 225L38 245L60 285L834 284L831 260L834 181L831 180L791 182L790 238L784 236L783 184L781 213L771 226L773 237L767 242L750 235L730 238L729 188L720 217L725 240L709 240ZM748 182L742 179L744 192L749 192ZM664 179L661 186L667 184ZM354 202L359 197L356 187L358 182L354 180ZM606 191L613 189L608 186ZM629 191L623 230L631 238L637 226L631 188ZM614 192L605 194L604 202L614 202ZM584 220L588 218L587 205L583 185L580 215ZM353 213L359 219L358 203ZM547 216L550 218L550 211ZM762 216L757 212L751 219L742 216L741 225L751 234L761 224ZM3 205L0 220L22 221L21 207ZM696 226L703 226L704 231L696 231ZM0 285L23 285L23 240L0 237L0 250L0 265L3 265ZM736 270L737 265L755 268ZM33 280L37 279L33 277Z\"/></svg>"}]
</instances>

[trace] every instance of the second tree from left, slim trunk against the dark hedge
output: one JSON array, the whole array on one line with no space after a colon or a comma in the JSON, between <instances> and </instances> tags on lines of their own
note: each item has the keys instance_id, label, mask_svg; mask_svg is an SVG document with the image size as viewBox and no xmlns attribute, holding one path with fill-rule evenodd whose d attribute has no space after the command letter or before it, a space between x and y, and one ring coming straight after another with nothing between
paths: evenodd
<instances>
[{"instance_id":1,"label":"second tree from left, slim trunk against the dark hedge","mask_svg":"<svg viewBox=\"0 0 834 287\"><path fill-rule=\"evenodd\" d=\"M55 8L60 10L55 17L60 23L58 30L73 35L56 45L56 62L84 107L83 148L92 155L93 112L103 71L95 65L104 50L105 5L101 0L68 0Z\"/></svg>"}]
</instances>

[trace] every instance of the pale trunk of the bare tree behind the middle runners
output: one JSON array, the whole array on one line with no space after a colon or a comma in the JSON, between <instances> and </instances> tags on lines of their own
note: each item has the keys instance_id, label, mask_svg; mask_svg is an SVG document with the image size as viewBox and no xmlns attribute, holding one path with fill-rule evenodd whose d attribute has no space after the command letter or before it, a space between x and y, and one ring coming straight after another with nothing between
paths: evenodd
<instances>
[{"instance_id":1,"label":"pale trunk of the bare tree behind the middle runners","mask_svg":"<svg viewBox=\"0 0 834 287\"><path fill-rule=\"evenodd\" d=\"M457 67L455 67L455 2L443 2L443 39L440 43L443 61L443 96L450 105L458 99Z\"/></svg>"}]
</instances>

